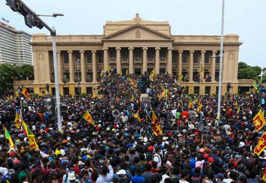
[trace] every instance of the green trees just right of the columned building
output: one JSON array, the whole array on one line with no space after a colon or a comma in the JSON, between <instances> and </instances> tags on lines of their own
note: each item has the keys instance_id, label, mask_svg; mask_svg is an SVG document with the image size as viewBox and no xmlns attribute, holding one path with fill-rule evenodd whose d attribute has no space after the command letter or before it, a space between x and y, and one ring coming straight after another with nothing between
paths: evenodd
<instances>
[{"instance_id":1,"label":"green trees just right of the columned building","mask_svg":"<svg viewBox=\"0 0 266 183\"><path fill-rule=\"evenodd\" d=\"M261 79L262 68L249 66L244 62L238 63L238 79L253 79L258 82Z\"/></svg>"}]
</instances>

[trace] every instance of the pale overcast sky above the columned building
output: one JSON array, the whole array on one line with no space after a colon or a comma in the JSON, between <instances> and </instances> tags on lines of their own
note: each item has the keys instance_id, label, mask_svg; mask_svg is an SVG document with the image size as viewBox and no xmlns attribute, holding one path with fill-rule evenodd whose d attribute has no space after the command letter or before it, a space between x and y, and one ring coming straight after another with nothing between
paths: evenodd
<instances>
[{"instance_id":1,"label":"pale overcast sky above the columned building","mask_svg":"<svg viewBox=\"0 0 266 183\"><path fill-rule=\"evenodd\" d=\"M62 13L64 17L41 17L61 35L102 34L106 21L132 20L138 13L143 20L168 21L174 35L220 35L222 0L24 0L36 14ZM28 28L24 17L13 12L5 0L0 17L28 33L46 33ZM266 67L266 0L225 0L224 35L238 34L243 42L239 62Z\"/></svg>"}]
</instances>

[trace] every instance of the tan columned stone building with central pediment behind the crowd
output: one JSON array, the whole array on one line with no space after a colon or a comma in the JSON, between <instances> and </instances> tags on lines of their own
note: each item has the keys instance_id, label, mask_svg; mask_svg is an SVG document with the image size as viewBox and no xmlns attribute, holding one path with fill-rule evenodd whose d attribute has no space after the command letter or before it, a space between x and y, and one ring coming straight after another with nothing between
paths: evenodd
<instances>
[{"instance_id":1,"label":"tan columned stone building with central pediment behind the crowd","mask_svg":"<svg viewBox=\"0 0 266 183\"><path fill-rule=\"evenodd\" d=\"M138 14L132 20L107 21L102 35L57 35L60 94L77 94L78 80L82 93L95 93L100 72L108 66L124 74L127 70L130 74L150 73L153 68L156 73L182 73L188 94L217 94L220 39L218 35L172 35L167 21L142 20ZM231 93L237 93L241 44L236 34L224 36L222 93L226 92L228 82ZM44 94L49 83L54 95L52 38L33 34L31 45L34 93ZM204 67L201 72L200 63Z\"/></svg>"}]
</instances>

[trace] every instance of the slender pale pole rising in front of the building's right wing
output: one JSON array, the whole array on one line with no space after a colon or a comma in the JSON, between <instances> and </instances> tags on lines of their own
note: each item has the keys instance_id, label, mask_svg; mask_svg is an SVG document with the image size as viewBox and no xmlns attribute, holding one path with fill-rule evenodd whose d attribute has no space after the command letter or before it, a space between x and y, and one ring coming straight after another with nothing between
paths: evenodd
<instances>
[{"instance_id":1,"label":"slender pale pole rising in front of the building's right wing","mask_svg":"<svg viewBox=\"0 0 266 183\"><path fill-rule=\"evenodd\" d=\"M220 45L220 54L217 55L217 56L220 57L217 116L220 116L220 115L221 115L222 67L223 67L223 25L224 25L224 0L223 0L223 2L222 2L222 23L221 23L221 45ZM217 56L212 56L211 58L214 58L214 57L217 57ZM219 117L218 117L218 119L219 119Z\"/></svg>"}]
</instances>

